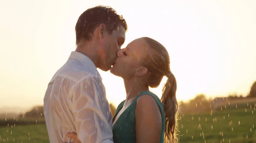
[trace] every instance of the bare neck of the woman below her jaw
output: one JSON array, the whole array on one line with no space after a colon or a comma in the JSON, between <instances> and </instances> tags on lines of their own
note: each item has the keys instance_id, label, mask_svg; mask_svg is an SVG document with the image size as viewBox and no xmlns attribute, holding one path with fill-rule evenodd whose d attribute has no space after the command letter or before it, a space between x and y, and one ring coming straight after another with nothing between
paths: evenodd
<instances>
[{"instance_id":1,"label":"bare neck of the woman below her jaw","mask_svg":"<svg viewBox=\"0 0 256 143\"><path fill-rule=\"evenodd\" d=\"M135 98L141 92L149 90L148 86L142 84L142 82L134 80L124 79L125 91L126 91L126 101Z\"/></svg>"}]
</instances>

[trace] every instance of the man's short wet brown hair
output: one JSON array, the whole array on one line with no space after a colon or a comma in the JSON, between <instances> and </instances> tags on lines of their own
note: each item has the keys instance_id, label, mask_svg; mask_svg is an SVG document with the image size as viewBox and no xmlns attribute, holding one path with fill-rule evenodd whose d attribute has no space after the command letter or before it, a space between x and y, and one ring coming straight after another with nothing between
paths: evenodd
<instances>
[{"instance_id":1,"label":"man's short wet brown hair","mask_svg":"<svg viewBox=\"0 0 256 143\"><path fill-rule=\"evenodd\" d=\"M90 41L93 37L93 31L100 24L106 25L108 34L118 29L122 25L127 31L128 27L122 15L118 15L110 6L96 6L84 11L76 23L76 45L80 41Z\"/></svg>"}]
</instances>

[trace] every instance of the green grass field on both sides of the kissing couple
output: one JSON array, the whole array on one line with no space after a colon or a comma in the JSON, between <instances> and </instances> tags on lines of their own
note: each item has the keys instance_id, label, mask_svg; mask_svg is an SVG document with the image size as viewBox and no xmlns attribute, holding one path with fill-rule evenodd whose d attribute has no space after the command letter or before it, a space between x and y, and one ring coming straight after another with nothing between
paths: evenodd
<instances>
[{"instance_id":1,"label":"green grass field on both sides of the kissing couple","mask_svg":"<svg viewBox=\"0 0 256 143\"><path fill-rule=\"evenodd\" d=\"M256 143L256 110L252 105L183 115L180 143ZM49 143L46 125L1 126L0 143Z\"/></svg>"}]
</instances>

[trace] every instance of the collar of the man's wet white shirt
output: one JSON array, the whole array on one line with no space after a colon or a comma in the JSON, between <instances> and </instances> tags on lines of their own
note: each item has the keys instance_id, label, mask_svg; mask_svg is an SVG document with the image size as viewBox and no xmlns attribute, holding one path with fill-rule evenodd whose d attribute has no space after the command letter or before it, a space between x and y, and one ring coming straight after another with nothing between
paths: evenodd
<instances>
[{"instance_id":1,"label":"collar of the man's wet white shirt","mask_svg":"<svg viewBox=\"0 0 256 143\"><path fill-rule=\"evenodd\" d=\"M97 70L97 67L95 66L95 64L93 63L93 61L86 55L84 55L83 53L79 53L77 51L72 51L70 53L70 56L68 59L76 59L79 62L81 62L82 64L84 64L84 66L90 68L92 70L92 72L95 72L96 75L99 75L99 77L102 80L102 77L99 74L99 71Z\"/></svg>"}]
</instances>

